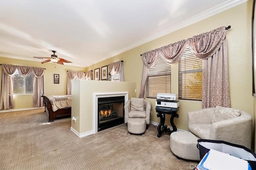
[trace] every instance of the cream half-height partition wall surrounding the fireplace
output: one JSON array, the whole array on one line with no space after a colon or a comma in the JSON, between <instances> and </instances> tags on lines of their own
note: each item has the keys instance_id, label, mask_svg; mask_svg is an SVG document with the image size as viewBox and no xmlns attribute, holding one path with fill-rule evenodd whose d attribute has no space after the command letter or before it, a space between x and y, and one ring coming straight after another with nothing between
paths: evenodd
<instances>
[{"instance_id":1,"label":"cream half-height partition wall surrounding the fireplace","mask_svg":"<svg viewBox=\"0 0 256 170\"><path fill-rule=\"evenodd\" d=\"M128 98L136 97L135 82L111 82L97 80L76 80L72 82L72 121L71 127L79 134L93 129L93 93L128 92Z\"/></svg>"}]
</instances>

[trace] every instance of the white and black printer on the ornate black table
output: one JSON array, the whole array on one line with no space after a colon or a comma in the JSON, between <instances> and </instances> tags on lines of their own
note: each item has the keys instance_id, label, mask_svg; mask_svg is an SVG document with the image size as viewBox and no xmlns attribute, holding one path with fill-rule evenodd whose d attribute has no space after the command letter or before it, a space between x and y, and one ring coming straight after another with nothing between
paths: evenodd
<instances>
[{"instance_id":1,"label":"white and black printer on the ornate black table","mask_svg":"<svg viewBox=\"0 0 256 170\"><path fill-rule=\"evenodd\" d=\"M156 95L156 109L178 111L180 103L177 94L158 93Z\"/></svg>"}]
</instances>

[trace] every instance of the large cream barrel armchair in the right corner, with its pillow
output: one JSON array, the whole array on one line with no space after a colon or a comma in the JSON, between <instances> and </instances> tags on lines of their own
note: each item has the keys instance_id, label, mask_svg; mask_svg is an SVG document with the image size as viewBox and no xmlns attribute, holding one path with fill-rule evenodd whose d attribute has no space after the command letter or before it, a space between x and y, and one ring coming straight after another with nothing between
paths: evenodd
<instances>
[{"instance_id":1,"label":"large cream barrel armchair in the right corner, with its pillow","mask_svg":"<svg viewBox=\"0 0 256 170\"><path fill-rule=\"evenodd\" d=\"M202 139L224 140L251 148L252 116L242 110L217 106L188 112L188 128Z\"/></svg>"}]
</instances>

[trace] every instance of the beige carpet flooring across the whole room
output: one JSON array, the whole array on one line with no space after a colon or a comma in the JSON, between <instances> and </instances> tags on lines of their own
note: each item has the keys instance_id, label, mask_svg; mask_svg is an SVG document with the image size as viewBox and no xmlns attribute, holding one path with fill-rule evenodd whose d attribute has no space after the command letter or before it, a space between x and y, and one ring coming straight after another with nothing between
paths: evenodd
<instances>
[{"instance_id":1,"label":"beige carpet flooring across the whole room","mask_svg":"<svg viewBox=\"0 0 256 170\"><path fill-rule=\"evenodd\" d=\"M0 113L1 170L192 170L197 164L177 159L170 135L158 138L152 124L141 136L121 124L79 138L71 118L48 123L43 111Z\"/></svg>"}]
</instances>

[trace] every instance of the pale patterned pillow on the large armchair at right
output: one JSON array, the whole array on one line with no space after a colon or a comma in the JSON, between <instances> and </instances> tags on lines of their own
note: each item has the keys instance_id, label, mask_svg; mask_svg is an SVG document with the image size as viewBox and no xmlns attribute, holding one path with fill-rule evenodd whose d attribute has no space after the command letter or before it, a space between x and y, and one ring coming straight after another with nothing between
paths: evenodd
<instances>
[{"instance_id":1,"label":"pale patterned pillow on the large armchair at right","mask_svg":"<svg viewBox=\"0 0 256 170\"><path fill-rule=\"evenodd\" d=\"M212 115L212 123L219 122L222 120L227 120L230 118L235 118L240 115L241 115L241 111L238 109L216 106L216 110Z\"/></svg>"}]
</instances>

